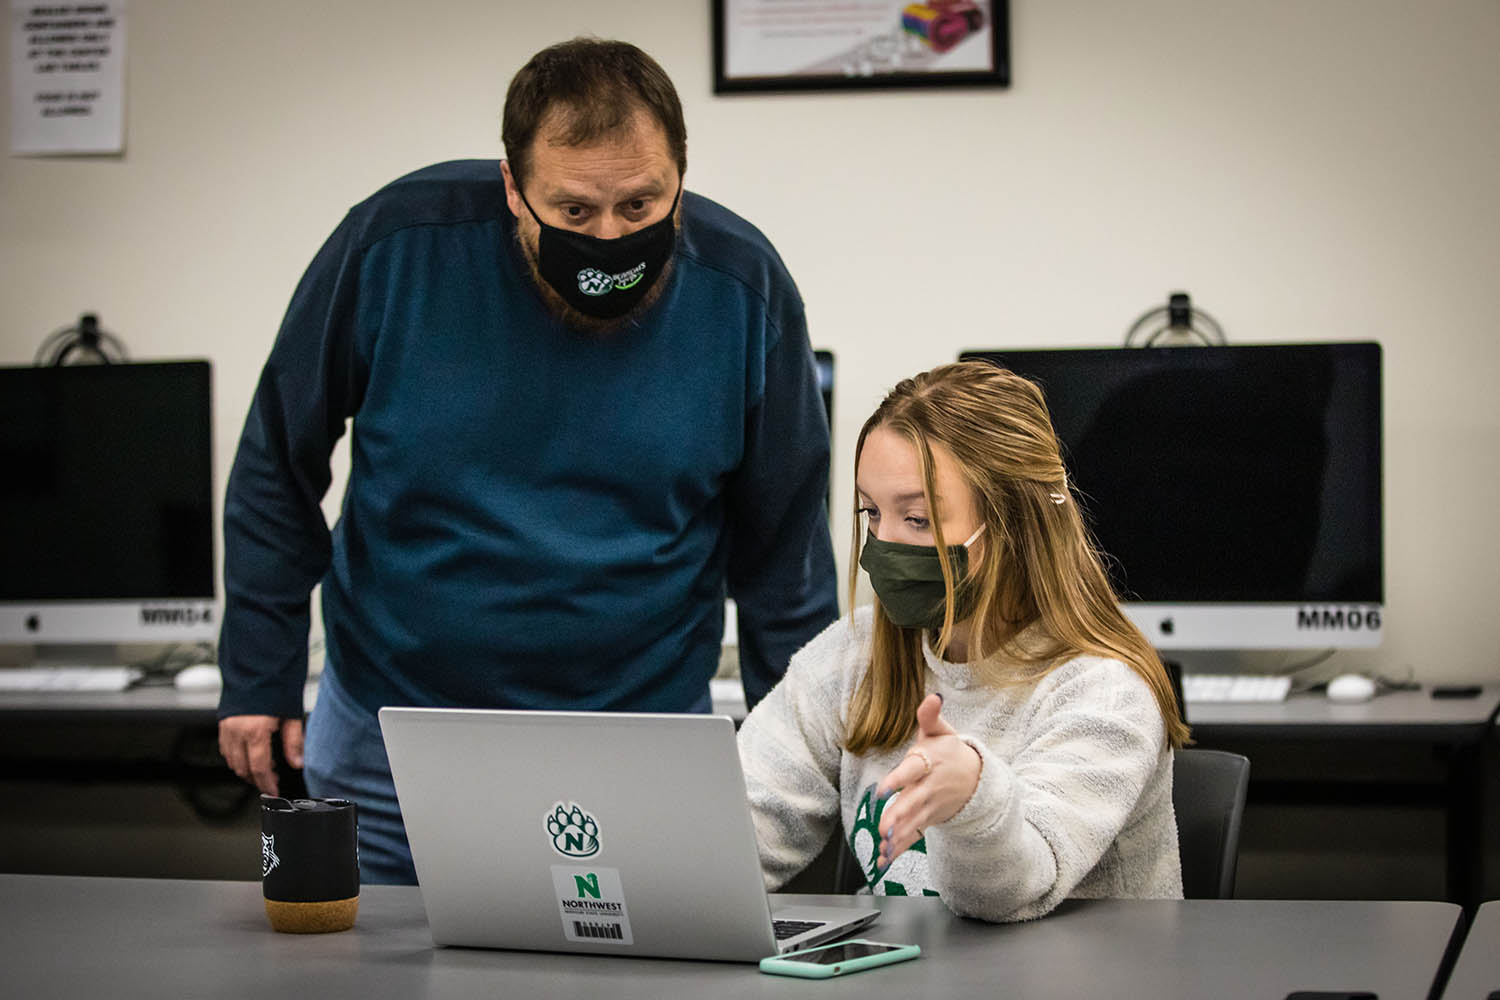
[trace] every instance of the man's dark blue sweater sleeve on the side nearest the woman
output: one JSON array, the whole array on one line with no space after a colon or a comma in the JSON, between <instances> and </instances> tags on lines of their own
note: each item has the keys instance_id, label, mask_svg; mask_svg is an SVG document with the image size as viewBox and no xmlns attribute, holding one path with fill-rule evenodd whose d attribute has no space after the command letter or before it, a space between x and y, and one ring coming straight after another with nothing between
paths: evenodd
<instances>
[{"instance_id":1,"label":"man's dark blue sweater sleeve on the side nearest the woman","mask_svg":"<svg viewBox=\"0 0 1500 1000\"><path fill-rule=\"evenodd\" d=\"M752 708L792 654L838 616L828 456L828 417L798 303L783 310L766 349L765 387L747 415L744 460L728 493L729 595Z\"/></svg>"}]
</instances>

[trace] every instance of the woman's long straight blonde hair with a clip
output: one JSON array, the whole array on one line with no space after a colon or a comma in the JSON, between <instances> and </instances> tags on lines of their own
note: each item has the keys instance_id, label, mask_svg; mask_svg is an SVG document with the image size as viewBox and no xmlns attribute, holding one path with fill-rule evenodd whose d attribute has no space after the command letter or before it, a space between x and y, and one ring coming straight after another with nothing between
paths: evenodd
<instances>
[{"instance_id":1,"label":"woman's long straight blonde hair with a clip","mask_svg":"<svg viewBox=\"0 0 1500 1000\"><path fill-rule=\"evenodd\" d=\"M1034 681L1080 654L1120 660L1150 685L1167 742L1180 747L1188 727L1178 712L1167 670L1119 609L1068 487L1041 390L982 361L945 364L903 379L860 430L855 469L864 441L876 427L902 435L916 450L928 511L936 513L934 444L952 454L974 490L984 523L984 549L966 580L974 607L970 663L1002 654L1018 670L987 679L1004 684ZM858 489L854 502L858 508ZM850 609L860 574L860 520L856 514L849 561ZM932 529L946 591L946 613L933 640L933 649L942 655L952 642L958 580L936 516ZM924 696L924 670L922 630L891 624L876 600L870 670L855 691L844 727L849 753L894 750L910 738Z\"/></svg>"}]
</instances>

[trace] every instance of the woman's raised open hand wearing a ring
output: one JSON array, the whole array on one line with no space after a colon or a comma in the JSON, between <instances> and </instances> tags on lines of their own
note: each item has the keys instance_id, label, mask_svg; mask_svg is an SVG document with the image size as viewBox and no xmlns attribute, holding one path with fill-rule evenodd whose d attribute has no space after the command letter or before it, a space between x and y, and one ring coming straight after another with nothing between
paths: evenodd
<instances>
[{"instance_id":1,"label":"woman's raised open hand wearing a ring","mask_svg":"<svg viewBox=\"0 0 1500 1000\"><path fill-rule=\"evenodd\" d=\"M920 841L928 826L952 819L980 787L980 753L958 739L940 712L940 694L922 699L916 706L916 742L876 787L882 799L902 793L880 813L880 871Z\"/></svg>"}]
</instances>

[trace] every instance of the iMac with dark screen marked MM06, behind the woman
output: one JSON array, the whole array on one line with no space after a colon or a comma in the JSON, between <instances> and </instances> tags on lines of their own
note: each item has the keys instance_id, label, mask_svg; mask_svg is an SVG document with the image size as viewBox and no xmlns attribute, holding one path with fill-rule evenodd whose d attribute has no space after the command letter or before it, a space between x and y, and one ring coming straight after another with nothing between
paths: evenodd
<instances>
[{"instance_id":1,"label":"iMac with dark screen marked MM06, behind the woman","mask_svg":"<svg viewBox=\"0 0 1500 1000\"><path fill-rule=\"evenodd\" d=\"M1380 643L1380 345L960 357L1042 387L1116 594L1158 648Z\"/></svg>"}]
</instances>

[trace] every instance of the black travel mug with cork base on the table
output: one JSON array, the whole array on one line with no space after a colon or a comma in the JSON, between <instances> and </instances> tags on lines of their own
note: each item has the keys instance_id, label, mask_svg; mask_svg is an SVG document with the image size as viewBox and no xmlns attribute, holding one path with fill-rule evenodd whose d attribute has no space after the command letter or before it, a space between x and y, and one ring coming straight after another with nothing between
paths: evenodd
<instances>
[{"instance_id":1,"label":"black travel mug with cork base on the table","mask_svg":"<svg viewBox=\"0 0 1500 1000\"><path fill-rule=\"evenodd\" d=\"M261 796L261 889L278 931L354 927L360 907L358 820L348 799Z\"/></svg>"}]
</instances>

